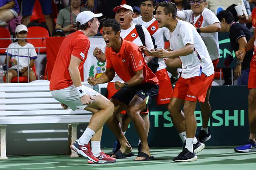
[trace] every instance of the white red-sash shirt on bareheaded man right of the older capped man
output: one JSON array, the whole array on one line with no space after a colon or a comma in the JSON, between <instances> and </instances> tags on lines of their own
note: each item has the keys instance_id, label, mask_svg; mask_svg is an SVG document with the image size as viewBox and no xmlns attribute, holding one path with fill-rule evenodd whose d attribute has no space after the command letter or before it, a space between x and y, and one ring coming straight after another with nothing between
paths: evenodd
<instances>
[{"instance_id":1,"label":"white red-sash shirt on bareheaded man right of the older capped man","mask_svg":"<svg viewBox=\"0 0 256 170\"><path fill-rule=\"evenodd\" d=\"M157 49L164 49L164 36L166 37L167 40L170 40L169 29L166 27L159 28L158 22L156 21L154 16L153 16L153 19L149 22L143 21L142 17L140 16L140 17L133 19L133 23L141 24L142 26L147 28L150 35L153 36L155 39ZM158 58L158 64L159 64L159 68L157 68L157 71L166 68L166 64L164 63L164 58Z\"/></svg>"}]
</instances>

